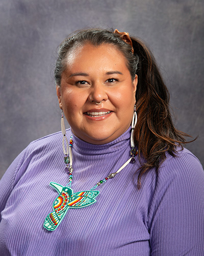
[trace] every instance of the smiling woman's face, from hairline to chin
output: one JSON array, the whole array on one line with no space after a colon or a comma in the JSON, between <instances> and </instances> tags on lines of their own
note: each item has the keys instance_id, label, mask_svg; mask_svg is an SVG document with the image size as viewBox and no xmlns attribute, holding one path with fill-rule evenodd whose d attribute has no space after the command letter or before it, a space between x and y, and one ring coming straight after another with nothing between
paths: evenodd
<instances>
[{"instance_id":1,"label":"smiling woman's face, from hairline to chin","mask_svg":"<svg viewBox=\"0 0 204 256\"><path fill-rule=\"evenodd\" d=\"M73 134L105 144L130 127L136 87L137 76L132 81L119 50L109 44L86 44L67 56L57 95Z\"/></svg>"}]
</instances>

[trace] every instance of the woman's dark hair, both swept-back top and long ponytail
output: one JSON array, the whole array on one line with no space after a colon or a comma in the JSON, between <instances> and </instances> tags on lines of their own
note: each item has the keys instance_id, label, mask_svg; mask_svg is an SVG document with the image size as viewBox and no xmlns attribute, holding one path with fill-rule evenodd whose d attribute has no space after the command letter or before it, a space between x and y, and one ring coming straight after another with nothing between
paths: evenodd
<instances>
[{"instance_id":1,"label":"woman's dark hair, both swept-back top and long ponytail","mask_svg":"<svg viewBox=\"0 0 204 256\"><path fill-rule=\"evenodd\" d=\"M131 46L124 42L119 34L109 30L81 30L65 38L58 51L55 81L60 86L61 74L66 68L67 54L75 47L85 45L87 42L94 46L111 44L123 53L132 79L136 74L138 75L136 91L138 121L134 137L139 158L145 159L139 168L138 187L140 187L141 176L153 167L158 172L159 166L166 158L166 152L175 156L178 146L183 150L183 143L186 143L184 136L189 135L176 130L173 125L169 111L169 92L151 51L140 39L136 37L131 39L134 54Z\"/></svg>"}]
</instances>

